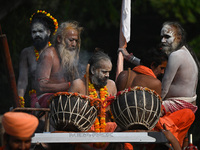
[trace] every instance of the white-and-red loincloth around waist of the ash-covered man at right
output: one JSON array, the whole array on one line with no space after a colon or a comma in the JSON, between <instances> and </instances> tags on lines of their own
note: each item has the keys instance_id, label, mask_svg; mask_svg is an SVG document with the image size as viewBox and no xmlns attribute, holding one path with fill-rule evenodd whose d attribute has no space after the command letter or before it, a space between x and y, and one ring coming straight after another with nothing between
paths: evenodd
<instances>
[{"instance_id":1,"label":"white-and-red loincloth around waist of the ash-covered man at right","mask_svg":"<svg viewBox=\"0 0 200 150\"><path fill-rule=\"evenodd\" d=\"M180 109L188 108L195 113L198 107L196 105L193 105L192 102L194 102L196 99L197 95L195 95L194 97L172 97L165 99L162 104L170 112L175 112Z\"/></svg>"}]
</instances>

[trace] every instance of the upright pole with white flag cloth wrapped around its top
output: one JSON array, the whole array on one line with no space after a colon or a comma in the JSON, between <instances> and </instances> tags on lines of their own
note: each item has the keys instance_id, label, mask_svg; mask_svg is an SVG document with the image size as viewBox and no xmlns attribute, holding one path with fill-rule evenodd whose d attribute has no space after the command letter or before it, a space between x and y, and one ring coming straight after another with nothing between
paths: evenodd
<instances>
[{"instance_id":1,"label":"upright pole with white flag cloth wrapped around its top","mask_svg":"<svg viewBox=\"0 0 200 150\"><path fill-rule=\"evenodd\" d=\"M119 48L126 49L127 42L130 40L130 7L131 0L122 0L121 8L121 20L120 20L120 31L119 31ZM126 36L126 37L125 37ZM116 77L117 80L120 72L124 70L124 56L121 51L118 51Z\"/></svg>"}]
</instances>

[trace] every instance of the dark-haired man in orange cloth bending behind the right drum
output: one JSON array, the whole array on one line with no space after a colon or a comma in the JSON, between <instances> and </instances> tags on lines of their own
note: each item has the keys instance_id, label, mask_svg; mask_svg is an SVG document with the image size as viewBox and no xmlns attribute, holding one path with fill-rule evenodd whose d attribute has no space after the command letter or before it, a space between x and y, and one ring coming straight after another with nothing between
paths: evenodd
<instances>
[{"instance_id":1,"label":"dark-haired man in orange cloth bending behind the right drum","mask_svg":"<svg viewBox=\"0 0 200 150\"><path fill-rule=\"evenodd\" d=\"M167 56L164 52L151 49L141 59L141 64L133 71L123 71L119 74L116 85L118 91L134 86L143 86L155 90L161 95L161 82L157 76L164 73L167 65ZM167 128L174 134L182 146L183 139L195 119L190 109L167 113L161 117L156 125L156 130L163 129L165 123Z\"/></svg>"}]
</instances>

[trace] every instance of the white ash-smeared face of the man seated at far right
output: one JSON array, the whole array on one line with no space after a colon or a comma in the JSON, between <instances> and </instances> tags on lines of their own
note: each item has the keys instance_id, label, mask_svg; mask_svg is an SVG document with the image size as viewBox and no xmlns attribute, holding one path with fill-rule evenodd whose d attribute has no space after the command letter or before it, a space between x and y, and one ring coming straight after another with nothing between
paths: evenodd
<instances>
[{"instance_id":1,"label":"white ash-smeared face of the man seated at far right","mask_svg":"<svg viewBox=\"0 0 200 150\"><path fill-rule=\"evenodd\" d=\"M176 31L170 25L164 25L161 29L161 44L162 50L168 55L179 45L176 41Z\"/></svg>"}]
</instances>

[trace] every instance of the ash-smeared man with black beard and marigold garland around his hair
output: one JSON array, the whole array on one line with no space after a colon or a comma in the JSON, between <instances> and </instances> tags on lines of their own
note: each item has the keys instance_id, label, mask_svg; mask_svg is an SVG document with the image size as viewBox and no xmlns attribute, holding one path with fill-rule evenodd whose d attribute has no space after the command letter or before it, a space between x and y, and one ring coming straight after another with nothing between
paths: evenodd
<instances>
[{"instance_id":1,"label":"ash-smeared man with black beard and marigold garland around his hair","mask_svg":"<svg viewBox=\"0 0 200 150\"><path fill-rule=\"evenodd\" d=\"M36 96L35 70L37 61L41 52L51 45L50 36L55 34L58 28L57 20L44 10L38 10L34 13L30 18L30 23L33 46L22 50L19 63L17 88L21 107L24 107L24 95L28 87L29 77L31 80L29 94L31 97ZM32 103L31 107L33 107Z\"/></svg>"}]
</instances>

